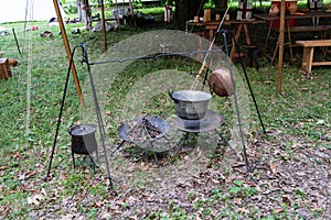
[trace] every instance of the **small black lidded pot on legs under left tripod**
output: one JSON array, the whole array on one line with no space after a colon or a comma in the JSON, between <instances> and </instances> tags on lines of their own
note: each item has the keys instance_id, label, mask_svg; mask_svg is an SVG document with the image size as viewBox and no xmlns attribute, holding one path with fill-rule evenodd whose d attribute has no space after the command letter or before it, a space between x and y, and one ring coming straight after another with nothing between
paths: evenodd
<instances>
[{"instance_id":1,"label":"small black lidded pot on legs under left tripod","mask_svg":"<svg viewBox=\"0 0 331 220\"><path fill-rule=\"evenodd\" d=\"M96 127L93 124L78 124L68 130L72 135L72 152L75 154L85 154L97 151L95 139Z\"/></svg>"}]
</instances>

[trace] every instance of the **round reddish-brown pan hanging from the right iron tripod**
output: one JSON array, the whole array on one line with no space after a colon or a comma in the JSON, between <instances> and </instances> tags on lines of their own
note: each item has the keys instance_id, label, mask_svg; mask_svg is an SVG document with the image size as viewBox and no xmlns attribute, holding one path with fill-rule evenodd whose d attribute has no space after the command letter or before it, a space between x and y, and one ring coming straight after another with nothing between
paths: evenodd
<instances>
[{"instance_id":1,"label":"round reddish-brown pan hanging from the right iron tripod","mask_svg":"<svg viewBox=\"0 0 331 220\"><path fill-rule=\"evenodd\" d=\"M213 92L220 97L228 97L234 92L234 82L232 82L228 69L215 69L210 76L210 87Z\"/></svg>"}]
</instances>

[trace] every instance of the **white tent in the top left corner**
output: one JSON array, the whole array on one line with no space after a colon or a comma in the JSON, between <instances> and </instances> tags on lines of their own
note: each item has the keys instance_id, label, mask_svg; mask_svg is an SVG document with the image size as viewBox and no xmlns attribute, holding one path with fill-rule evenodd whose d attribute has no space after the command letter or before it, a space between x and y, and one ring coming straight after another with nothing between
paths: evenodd
<instances>
[{"instance_id":1,"label":"white tent in the top left corner","mask_svg":"<svg viewBox=\"0 0 331 220\"><path fill-rule=\"evenodd\" d=\"M64 11L61 10L62 15ZM0 23L56 18L53 0L1 0Z\"/></svg>"}]
</instances>

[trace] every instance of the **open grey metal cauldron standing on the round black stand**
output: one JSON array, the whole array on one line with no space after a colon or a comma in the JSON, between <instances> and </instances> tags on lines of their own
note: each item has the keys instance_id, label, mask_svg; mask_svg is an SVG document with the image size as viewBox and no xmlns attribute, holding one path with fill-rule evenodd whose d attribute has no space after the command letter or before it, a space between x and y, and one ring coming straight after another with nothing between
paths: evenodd
<instances>
[{"instance_id":1,"label":"open grey metal cauldron standing on the round black stand","mask_svg":"<svg viewBox=\"0 0 331 220\"><path fill-rule=\"evenodd\" d=\"M169 92L174 101L175 113L181 119L199 120L205 116L212 95L197 90Z\"/></svg>"}]
</instances>

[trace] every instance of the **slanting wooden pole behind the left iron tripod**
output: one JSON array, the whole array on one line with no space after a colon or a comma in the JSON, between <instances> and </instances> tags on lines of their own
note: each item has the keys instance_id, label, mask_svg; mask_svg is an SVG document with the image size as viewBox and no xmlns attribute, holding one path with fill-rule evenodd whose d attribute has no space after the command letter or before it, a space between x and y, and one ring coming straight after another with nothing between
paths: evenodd
<instances>
[{"instance_id":1,"label":"slanting wooden pole behind the left iron tripod","mask_svg":"<svg viewBox=\"0 0 331 220\"><path fill-rule=\"evenodd\" d=\"M53 0L53 3L54 3L56 16L57 16L57 21L58 21L58 25L60 25L60 30L61 30L63 43L64 43L65 51L66 51L66 54L67 54L67 58L68 58L68 61L71 61L72 59L71 46L70 46L70 43L68 43L68 40L67 40L67 36L66 36L66 32L65 32L65 28L64 28L64 23L63 23L63 20L62 20L62 15L61 15L61 11L60 11L60 8L58 8L57 0ZM84 106L84 98L83 98L79 80L78 80L78 77L77 77L77 72L76 72L75 64L73 63L71 67L72 67L72 73L73 73L77 95L78 95L78 98L79 98L79 102L81 102L82 106Z\"/></svg>"}]
</instances>

